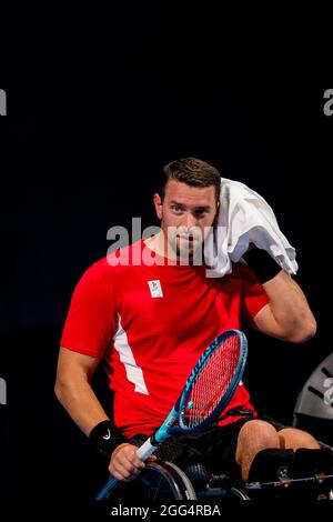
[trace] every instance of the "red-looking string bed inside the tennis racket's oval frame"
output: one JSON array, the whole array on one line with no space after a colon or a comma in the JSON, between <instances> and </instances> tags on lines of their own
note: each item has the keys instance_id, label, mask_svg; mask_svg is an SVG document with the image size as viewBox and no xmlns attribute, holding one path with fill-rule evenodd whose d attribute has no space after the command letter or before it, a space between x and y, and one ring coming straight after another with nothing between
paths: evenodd
<instances>
[{"instance_id":1,"label":"red-looking string bed inside the tennis racket's oval frame","mask_svg":"<svg viewBox=\"0 0 333 522\"><path fill-rule=\"evenodd\" d=\"M199 425L220 404L232 381L239 355L239 337L231 335L213 352L196 375L185 410L189 428Z\"/></svg>"}]
</instances>

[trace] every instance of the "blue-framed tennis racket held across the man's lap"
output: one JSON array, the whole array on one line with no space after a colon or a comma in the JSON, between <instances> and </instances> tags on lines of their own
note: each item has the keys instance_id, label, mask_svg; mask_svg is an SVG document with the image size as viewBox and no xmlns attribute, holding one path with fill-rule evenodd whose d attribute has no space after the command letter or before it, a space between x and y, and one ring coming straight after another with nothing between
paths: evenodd
<instances>
[{"instance_id":1,"label":"blue-framed tennis racket held across the man's lap","mask_svg":"<svg viewBox=\"0 0 333 522\"><path fill-rule=\"evenodd\" d=\"M243 332L228 330L203 352L165 421L139 449L148 459L171 435L193 434L215 422L239 385L248 357ZM108 499L120 481L111 476L95 500Z\"/></svg>"}]
</instances>

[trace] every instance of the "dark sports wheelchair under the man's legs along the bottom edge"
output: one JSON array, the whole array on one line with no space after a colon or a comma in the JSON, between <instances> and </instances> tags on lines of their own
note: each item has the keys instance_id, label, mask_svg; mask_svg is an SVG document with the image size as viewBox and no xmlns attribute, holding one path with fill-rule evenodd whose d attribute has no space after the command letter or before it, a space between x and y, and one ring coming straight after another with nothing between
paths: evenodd
<instances>
[{"instance_id":1,"label":"dark sports wheelchair under the man's legs along the bottom edge","mask_svg":"<svg viewBox=\"0 0 333 522\"><path fill-rule=\"evenodd\" d=\"M270 468L272 479L255 481L209 474L201 463L180 468L173 462L158 460L149 462L134 480L119 483L107 500L110 505L195 500L210 503L231 499L333 500L333 449L322 444L321 450L303 450L297 460L296 474L289 459L276 460L275 455L263 461L262 464Z\"/></svg>"}]
</instances>

